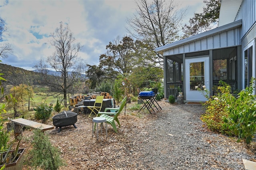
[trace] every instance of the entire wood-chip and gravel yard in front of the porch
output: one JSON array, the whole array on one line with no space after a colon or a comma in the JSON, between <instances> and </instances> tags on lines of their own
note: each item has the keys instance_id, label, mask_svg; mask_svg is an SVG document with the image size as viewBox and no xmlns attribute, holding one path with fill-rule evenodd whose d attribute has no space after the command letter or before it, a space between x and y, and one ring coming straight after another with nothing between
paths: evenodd
<instances>
[{"instance_id":1,"label":"entire wood-chip and gravel yard in front of the porch","mask_svg":"<svg viewBox=\"0 0 256 170\"><path fill-rule=\"evenodd\" d=\"M92 119L84 114L78 115L78 128L46 131L67 164L60 169L235 170L244 168L242 159L256 159L255 150L236 138L209 131L200 120L202 106L159 104L162 111L153 114L130 111L134 103L128 104L126 115L123 111L119 116L118 132L108 125L108 138L105 128L99 140L96 135L92 138ZM52 120L46 124L52 125ZM24 130L23 136L30 135L31 130ZM20 147L27 153L30 143L22 140Z\"/></svg>"}]
</instances>

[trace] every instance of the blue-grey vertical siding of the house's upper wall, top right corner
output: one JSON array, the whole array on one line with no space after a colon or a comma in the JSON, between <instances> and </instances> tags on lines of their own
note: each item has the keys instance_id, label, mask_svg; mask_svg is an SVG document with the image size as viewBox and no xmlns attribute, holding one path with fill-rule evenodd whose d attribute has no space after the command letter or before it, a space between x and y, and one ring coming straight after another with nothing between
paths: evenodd
<instances>
[{"instance_id":1,"label":"blue-grey vertical siding of the house's upper wall, top right corner","mask_svg":"<svg viewBox=\"0 0 256 170\"><path fill-rule=\"evenodd\" d=\"M244 0L236 15L235 21L242 19L242 37L256 22L256 0ZM255 34L254 34L255 35Z\"/></svg>"}]
</instances>

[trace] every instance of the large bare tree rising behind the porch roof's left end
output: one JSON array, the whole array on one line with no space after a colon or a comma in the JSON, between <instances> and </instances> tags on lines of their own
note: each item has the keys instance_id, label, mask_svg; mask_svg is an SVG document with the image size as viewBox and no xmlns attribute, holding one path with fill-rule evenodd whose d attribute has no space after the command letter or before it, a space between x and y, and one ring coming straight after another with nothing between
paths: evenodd
<instances>
[{"instance_id":1,"label":"large bare tree rising behind the porch roof's left end","mask_svg":"<svg viewBox=\"0 0 256 170\"><path fill-rule=\"evenodd\" d=\"M178 32L182 28L181 22L186 10L178 10L178 4L174 4L173 0L135 2L138 7L136 14L126 21L130 26L127 30L134 38L148 44L152 49L179 39ZM156 62L162 64L162 60Z\"/></svg>"}]
</instances>

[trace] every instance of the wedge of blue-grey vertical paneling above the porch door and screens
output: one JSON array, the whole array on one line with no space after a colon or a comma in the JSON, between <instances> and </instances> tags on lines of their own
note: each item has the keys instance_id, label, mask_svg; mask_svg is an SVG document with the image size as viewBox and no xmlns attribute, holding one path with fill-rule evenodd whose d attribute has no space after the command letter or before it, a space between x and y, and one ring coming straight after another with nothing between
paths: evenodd
<instances>
[{"instance_id":1,"label":"wedge of blue-grey vertical paneling above the porch door and screens","mask_svg":"<svg viewBox=\"0 0 256 170\"><path fill-rule=\"evenodd\" d=\"M240 34L241 28L228 30L226 32L208 36L194 42L184 43L183 45L164 51L163 55L166 56L180 53L190 53L195 51L204 51L209 49L241 45Z\"/></svg>"}]
</instances>

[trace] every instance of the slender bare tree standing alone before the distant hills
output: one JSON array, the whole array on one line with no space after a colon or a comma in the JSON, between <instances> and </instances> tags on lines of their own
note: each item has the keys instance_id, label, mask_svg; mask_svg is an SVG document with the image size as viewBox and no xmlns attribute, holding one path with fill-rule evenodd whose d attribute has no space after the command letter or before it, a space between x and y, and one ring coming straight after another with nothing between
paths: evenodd
<instances>
[{"instance_id":1,"label":"slender bare tree standing alone before the distant hills","mask_svg":"<svg viewBox=\"0 0 256 170\"><path fill-rule=\"evenodd\" d=\"M49 75L47 70L48 64L42 59L34 68L44 75L44 79L50 87L63 94L66 107L67 94L69 90L72 90L73 83L78 80L83 81L85 78L85 75L82 73L85 73L83 69L85 69L86 63L83 63L82 59L78 57L78 52L82 46L80 43L76 43L68 24L64 27L61 22L60 27L56 28L51 37L52 41L50 43L55 47L55 51L47 58L46 62L56 71L56 75Z\"/></svg>"}]
</instances>

